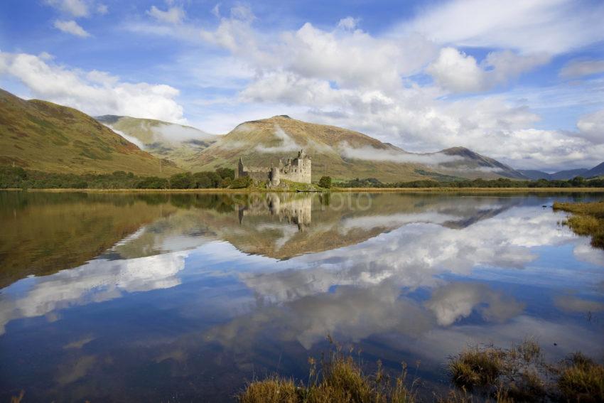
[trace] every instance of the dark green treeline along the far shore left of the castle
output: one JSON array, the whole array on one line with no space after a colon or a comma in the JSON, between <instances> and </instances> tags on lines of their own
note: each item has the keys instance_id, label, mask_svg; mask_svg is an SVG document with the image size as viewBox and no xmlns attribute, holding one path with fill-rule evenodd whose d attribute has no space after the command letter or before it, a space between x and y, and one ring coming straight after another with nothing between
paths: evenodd
<instances>
[{"instance_id":1,"label":"dark green treeline along the far shore left of the castle","mask_svg":"<svg viewBox=\"0 0 604 403\"><path fill-rule=\"evenodd\" d=\"M241 183L240 183L241 182ZM49 173L31 171L20 167L0 166L0 188L32 189L206 189L244 188L249 183L234 179L234 170L219 168L216 171L177 173L170 178L136 176L131 172L113 173ZM238 187L239 186L239 187Z\"/></svg>"}]
</instances>

